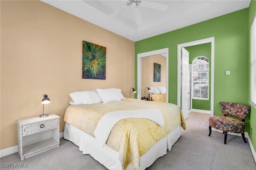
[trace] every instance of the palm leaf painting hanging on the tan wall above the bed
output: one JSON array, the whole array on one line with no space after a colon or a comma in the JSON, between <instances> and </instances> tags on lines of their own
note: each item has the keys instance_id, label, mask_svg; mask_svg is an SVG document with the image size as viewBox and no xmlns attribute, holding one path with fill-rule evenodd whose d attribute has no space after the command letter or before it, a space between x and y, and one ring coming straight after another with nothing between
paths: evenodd
<instances>
[{"instance_id":1,"label":"palm leaf painting hanging on the tan wall above the bed","mask_svg":"<svg viewBox=\"0 0 256 170\"><path fill-rule=\"evenodd\" d=\"M106 79L106 47L83 41L82 78Z\"/></svg>"}]
</instances>

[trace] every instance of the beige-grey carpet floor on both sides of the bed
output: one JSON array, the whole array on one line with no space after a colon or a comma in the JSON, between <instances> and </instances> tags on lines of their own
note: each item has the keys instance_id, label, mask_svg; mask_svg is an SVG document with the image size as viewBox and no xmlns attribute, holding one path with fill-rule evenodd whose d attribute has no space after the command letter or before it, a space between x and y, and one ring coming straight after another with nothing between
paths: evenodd
<instances>
[{"instance_id":1,"label":"beige-grey carpet floor on both sides of the bed","mask_svg":"<svg viewBox=\"0 0 256 170\"><path fill-rule=\"evenodd\" d=\"M199 119L199 118L198 118ZM191 120L191 119L190 119ZM147 170L256 170L249 144L242 137L212 131L207 125L186 120L187 130L172 146L171 151L158 158ZM206 124L206 123L205 123ZM83 155L78 146L60 139L60 147L20 161L18 153L0 159L1 170L106 170L90 155ZM4 167L5 164L22 164L24 168Z\"/></svg>"}]
</instances>

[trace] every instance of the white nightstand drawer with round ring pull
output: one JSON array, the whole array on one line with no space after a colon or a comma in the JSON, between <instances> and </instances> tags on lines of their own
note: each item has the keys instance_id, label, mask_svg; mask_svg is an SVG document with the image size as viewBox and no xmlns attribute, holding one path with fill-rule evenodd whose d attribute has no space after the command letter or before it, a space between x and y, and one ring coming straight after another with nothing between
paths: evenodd
<instances>
[{"instance_id":1,"label":"white nightstand drawer with round ring pull","mask_svg":"<svg viewBox=\"0 0 256 170\"><path fill-rule=\"evenodd\" d=\"M56 128L58 126L59 126L58 119L42 121L42 122L30 124L30 125L23 125L22 126L22 136L41 132L43 130L47 130L47 129L51 129L51 128Z\"/></svg>"}]
</instances>

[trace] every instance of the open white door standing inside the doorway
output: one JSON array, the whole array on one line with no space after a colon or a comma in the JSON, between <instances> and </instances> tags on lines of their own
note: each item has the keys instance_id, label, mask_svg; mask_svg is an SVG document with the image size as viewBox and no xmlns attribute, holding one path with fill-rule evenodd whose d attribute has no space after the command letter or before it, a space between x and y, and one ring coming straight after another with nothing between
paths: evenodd
<instances>
[{"instance_id":1,"label":"open white door standing inside the doorway","mask_svg":"<svg viewBox=\"0 0 256 170\"><path fill-rule=\"evenodd\" d=\"M185 48L181 48L181 111L185 119L188 118L190 103L190 80L189 80L189 52Z\"/></svg>"}]
</instances>

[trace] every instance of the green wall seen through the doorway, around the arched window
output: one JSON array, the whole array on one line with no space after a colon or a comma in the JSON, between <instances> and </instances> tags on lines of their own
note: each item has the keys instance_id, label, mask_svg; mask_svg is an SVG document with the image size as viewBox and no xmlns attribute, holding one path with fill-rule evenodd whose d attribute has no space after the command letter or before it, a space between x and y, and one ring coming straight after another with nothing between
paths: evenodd
<instances>
[{"instance_id":1,"label":"green wall seen through the doorway, around the arched window","mask_svg":"<svg viewBox=\"0 0 256 170\"><path fill-rule=\"evenodd\" d=\"M209 100L198 100L192 99L192 109L199 109L210 111L211 110L211 43L204 43L200 45L194 45L190 47L185 47L189 52L189 63L192 64L192 61L202 55L208 58L209 60Z\"/></svg>"}]
</instances>

